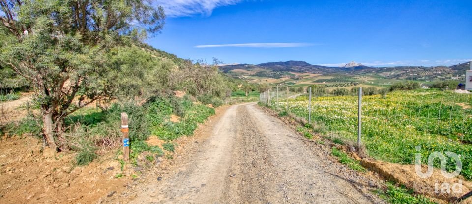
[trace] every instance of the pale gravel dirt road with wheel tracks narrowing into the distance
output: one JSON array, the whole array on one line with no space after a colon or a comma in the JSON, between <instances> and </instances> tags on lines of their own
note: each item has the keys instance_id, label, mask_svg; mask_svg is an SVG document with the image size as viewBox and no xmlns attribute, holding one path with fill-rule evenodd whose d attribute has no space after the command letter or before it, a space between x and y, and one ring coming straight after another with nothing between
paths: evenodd
<instances>
[{"instance_id":1,"label":"pale gravel dirt road with wheel tracks narrowing into the distance","mask_svg":"<svg viewBox=\"0 0 472 204\"><path fill-rule=\"evenodd\" d=\"M123 195L129 203L377 203L331 171L304 139L255 103L235 105L175 171ZM118 198L119 200L119 198Z\"/></svg>"}]
</instances>

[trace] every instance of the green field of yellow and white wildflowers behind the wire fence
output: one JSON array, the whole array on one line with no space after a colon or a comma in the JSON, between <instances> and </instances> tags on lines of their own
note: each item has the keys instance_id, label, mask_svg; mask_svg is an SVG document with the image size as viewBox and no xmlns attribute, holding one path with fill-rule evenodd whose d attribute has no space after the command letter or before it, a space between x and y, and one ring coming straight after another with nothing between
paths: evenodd
<instances>
[{"instance_id":1,"label":"green field of yellow and white wildflowers behind the wire fence","mask_svg":"<svg viewBox=\"0 0 472 204\"><path fill-rule=\"evenodd\" d=\"M461 157L462 172L472 179L472 94L435 89L394 91L364 96L362 143L370 156L383 161L414 164L415 153L423 163L430 153L454 152ZM284 102L281 102L284 101ZM278 107L286 107L280 100ZM357 96L312 98L312 121L345 139L357 138ZM272 106L274 107L274 106ZM289 112L308 117L306 95L289 100ZM415 146L421 146L420 152ZM455 169L455 162L447 167Z\"/></svg>"}]
</instances>

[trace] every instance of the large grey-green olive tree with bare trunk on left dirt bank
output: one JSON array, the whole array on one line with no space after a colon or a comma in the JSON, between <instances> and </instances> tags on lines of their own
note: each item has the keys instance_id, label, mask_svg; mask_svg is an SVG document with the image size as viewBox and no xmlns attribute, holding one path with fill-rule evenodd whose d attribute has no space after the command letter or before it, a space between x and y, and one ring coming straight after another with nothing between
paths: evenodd
<instances>
[{"instance_id":1,"label":"large grey-green olive tree with bare trunk on left dirt bank","mask_svg":"<svg viewBox=\"0 0 472 204\"><path fill-rule=\"evenodd\" d=\"M63 119L110 97L107 52L164 26L162 7L146 0L0 0L0 63L35 90L46 144L56 149Z\"/></svg>"}]
</instances>

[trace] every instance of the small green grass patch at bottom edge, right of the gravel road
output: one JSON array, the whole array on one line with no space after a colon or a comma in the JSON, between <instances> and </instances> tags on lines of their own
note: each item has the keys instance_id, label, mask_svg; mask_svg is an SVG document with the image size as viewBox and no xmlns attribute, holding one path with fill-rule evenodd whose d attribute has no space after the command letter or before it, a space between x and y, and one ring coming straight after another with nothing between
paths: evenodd
<instances>
[{"instance_id":1,"label":"small green grass patch at bottom edge, right of the gravel road","mask_svg":"<svg viewBox=\"0 0 472 204\"><path fill-rule=\"evenodd\" d=\"M397 187L392 183L387 183L387 189L380 193L380 197L390 204L436 204L422 195L414 195L404 186Z\"/></svg>"}]
</instances>

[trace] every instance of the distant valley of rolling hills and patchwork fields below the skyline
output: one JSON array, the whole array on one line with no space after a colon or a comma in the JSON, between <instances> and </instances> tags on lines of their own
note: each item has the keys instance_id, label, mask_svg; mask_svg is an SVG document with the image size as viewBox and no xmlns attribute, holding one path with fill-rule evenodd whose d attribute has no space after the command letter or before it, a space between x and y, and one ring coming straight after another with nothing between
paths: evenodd
<instances>
[{"instance_id":1,"label":"distant valley of rolling hills and patchwork fields below the skyline","mask_svg":"<svg viewBox=\"0 0 472 204\"><path fill-rule=\"evenodd\" d=\"M383 88L409 80L417 81L424 86L442 80L463 82L465 71L469 69L469 62L436 67L368 67L363 65L325 67L311 65L303 61L287 61L258 65L226 65L219 68L231 77L257 84L281 84L294 87L328 85L326 86L328 89L332 89L331 87L352 88L361 86ZM345 83L353 84L345 86Z\"/></svg>"}]
</instances>

